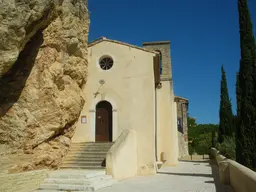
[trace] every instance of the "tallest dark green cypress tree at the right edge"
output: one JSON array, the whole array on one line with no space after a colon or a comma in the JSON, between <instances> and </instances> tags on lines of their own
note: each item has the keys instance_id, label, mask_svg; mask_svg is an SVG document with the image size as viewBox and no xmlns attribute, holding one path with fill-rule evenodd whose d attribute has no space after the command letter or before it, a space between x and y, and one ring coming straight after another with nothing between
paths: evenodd
<instances>
[{"instance_id":1,"label":"tallest dark green cypress tree at the right edge","mask_svg":"<svg viewBox=\"0 0 256 192\"><path fill-rule=\"evenodd\" d=\"M247 0L238 0L240 69L237 79L236 160L256 169L256 44Z\"/></svg>"}]
</instances>

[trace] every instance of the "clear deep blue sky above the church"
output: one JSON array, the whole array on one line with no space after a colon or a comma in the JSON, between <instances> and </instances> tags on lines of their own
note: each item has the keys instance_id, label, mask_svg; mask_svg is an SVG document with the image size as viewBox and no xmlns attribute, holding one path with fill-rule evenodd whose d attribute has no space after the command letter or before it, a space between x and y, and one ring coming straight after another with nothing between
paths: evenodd
<instances>
[{"instance_id":1,"label":"clear deep blue sky above the church","mask_svg":"<svg viewBox=\"0 0 256 192\"><path fill-rule=\"evenodd\" d=\"M249 0L256 32L256 0ZM174 91L197 123L219 122L221 65L233 111L240 47L237 0L89 0L89 41L101 36L141 46L171 41Z\"/></svg>"}]
</instances>

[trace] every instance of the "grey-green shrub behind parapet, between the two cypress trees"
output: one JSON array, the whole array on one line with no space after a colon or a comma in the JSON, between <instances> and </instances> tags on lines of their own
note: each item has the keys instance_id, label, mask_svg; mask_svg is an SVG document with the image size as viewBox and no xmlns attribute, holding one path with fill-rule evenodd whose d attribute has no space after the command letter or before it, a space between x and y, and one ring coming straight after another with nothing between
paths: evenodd
<instances>
[{"instance_id":1,"label":"grey-green shrub behind parapet, between the two cypress trees","mask_svg":"<svg viewBox=\"0 0 256 192\"><path fill-rule=\"evenodd\" d=\"M220 154L228 159L236 159L236 141L235 137L224 137L224 141L219 146Z\"/></svg>"}]
</instances>

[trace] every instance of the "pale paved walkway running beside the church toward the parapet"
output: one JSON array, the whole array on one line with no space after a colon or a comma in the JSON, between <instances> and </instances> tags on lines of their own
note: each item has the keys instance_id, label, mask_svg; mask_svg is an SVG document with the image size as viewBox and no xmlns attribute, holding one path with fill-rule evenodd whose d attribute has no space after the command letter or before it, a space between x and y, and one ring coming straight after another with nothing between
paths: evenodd
<instances>
[{"instance_id":1,"label":"pale paved walkway running beside the church toward the parapet","mask_svg":"<svg viewBox=\"0 0 256 192\"><path fill-rule=\"evenodd\" d=\"M177 167L162 168L155 176L121 181L99 192L231 192L219 183L216 165L208 161L181 161Z\"/></svg>"}]
</instances>

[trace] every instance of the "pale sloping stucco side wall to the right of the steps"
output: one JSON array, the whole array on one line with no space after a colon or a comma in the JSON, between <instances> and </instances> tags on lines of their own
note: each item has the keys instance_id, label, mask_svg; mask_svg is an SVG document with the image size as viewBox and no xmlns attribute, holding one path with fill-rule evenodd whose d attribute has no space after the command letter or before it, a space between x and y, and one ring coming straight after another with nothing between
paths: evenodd
<instances>
[{"instance_id":1,"label":"pale sloping stucco side wall to the right of the steps","mask_svg":"<svg viewBox=\"0 0 256 192\"><path fill-rule=\"evenodd\" d=\"M126 129L107 153L107 174L119 180L134 177L138 172L137 159L136 131Z\"/></svg>"}]
</instances>

